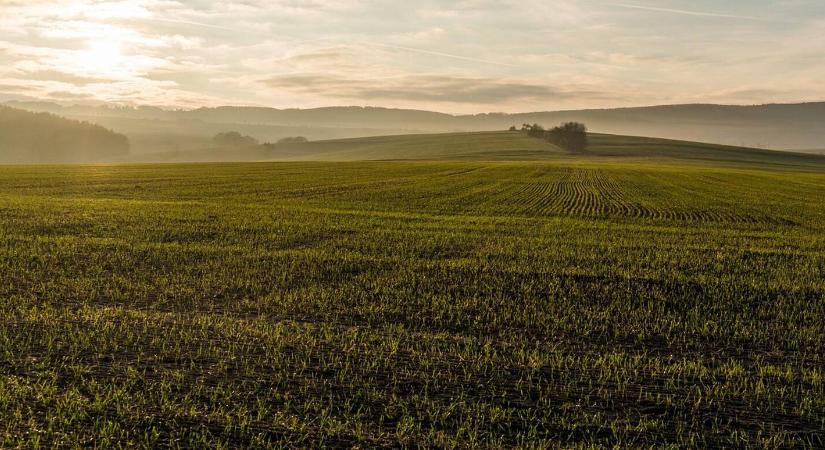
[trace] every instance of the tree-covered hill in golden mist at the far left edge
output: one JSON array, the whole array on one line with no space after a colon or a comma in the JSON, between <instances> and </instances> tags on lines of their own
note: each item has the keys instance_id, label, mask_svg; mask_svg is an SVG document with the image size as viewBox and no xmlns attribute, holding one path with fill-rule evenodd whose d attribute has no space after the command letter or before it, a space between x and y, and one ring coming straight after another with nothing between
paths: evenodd
<instances>
[{"instance_id":1,"label":"tree-covered hill in golden mist at the far left edge","mask_svg":"<svg viewBox=\"0 0 825 450\"><path fill-rule=\"evenodd\" d=\"M0 163L122 160L129 140L99 125L0 106Z\"/></svg>"}]
</instances>

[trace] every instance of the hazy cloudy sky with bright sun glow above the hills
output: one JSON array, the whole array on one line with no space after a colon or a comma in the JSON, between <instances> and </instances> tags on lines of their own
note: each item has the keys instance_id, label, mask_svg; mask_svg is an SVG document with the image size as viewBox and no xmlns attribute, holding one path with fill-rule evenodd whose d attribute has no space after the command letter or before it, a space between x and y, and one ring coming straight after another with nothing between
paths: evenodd
<instances>
[{"instance_id":1,"label":"hazy cloudy sky with bright sun glow above the hills","mask_svg":"<svg viewBox=\"0 0 825 450\"><path fill-rule=\"evenodd\" d=\"M825 100L824 0L0 0L0 100L446 112Z\"/></svg>"}]
</instances>

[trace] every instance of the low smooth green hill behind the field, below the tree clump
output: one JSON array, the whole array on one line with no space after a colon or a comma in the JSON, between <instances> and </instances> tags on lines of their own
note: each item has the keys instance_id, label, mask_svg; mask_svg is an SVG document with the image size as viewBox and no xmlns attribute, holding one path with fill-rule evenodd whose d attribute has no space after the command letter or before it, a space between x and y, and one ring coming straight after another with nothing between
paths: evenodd
<instances>
[{"instance_id":1,"label":"low smooth green hill behind the field, below the tree clump","mask_svg":"<svg viewBox=\"0 0 825 450\"><path fill-rule=\"evenodd\" d=\"M136 161L536 161L662 159L782 166L822 166L822 155L668 139L590 134L585 153L570 153L521 132L410 134L141 155Z\"/></svg>"}]
</instances>

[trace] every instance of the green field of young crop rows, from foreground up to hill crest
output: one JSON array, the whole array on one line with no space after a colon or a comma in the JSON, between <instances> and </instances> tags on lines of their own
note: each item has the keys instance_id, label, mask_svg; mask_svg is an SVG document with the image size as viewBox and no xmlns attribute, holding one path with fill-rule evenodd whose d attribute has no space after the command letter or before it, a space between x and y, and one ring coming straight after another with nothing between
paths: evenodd
<instances>
[{"instance_id":1,"label":"green field of young crop rows, from foreground up to hill crest","mask_svg":"<svg viewBox=\"0 0 825 450\"><path fill-rule=\"evenodd\" d=\"M468 139L0 168L0 447L825 446L825 158Z\"/></svg>"}]
</instances>

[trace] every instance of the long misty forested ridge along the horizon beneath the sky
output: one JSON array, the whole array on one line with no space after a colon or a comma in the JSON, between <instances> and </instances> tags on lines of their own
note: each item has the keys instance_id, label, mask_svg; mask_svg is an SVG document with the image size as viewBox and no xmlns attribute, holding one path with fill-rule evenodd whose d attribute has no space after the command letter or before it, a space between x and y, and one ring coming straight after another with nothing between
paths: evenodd
<instances>
[{"instance_id":1,"label":"long misty forested ridge along the horizon beneath the sky","mask_svg":"<svg viewBox=\"0 0 825 450\"><path fill-rule=\"evenodd\" d=\"M635 136L773 149L825 146L825 102L758 106L671 105L524 114L450 115L372 107L274 109L259 107L163 110L153 107L61 106L16 102L14 106L88 120L127 134L139 151L203 147L215 129L237 130L274 142L302 135L311 140L390 134L470 132L511 125L586 123L591 130Z\"/></svg>"}]
</instances>

